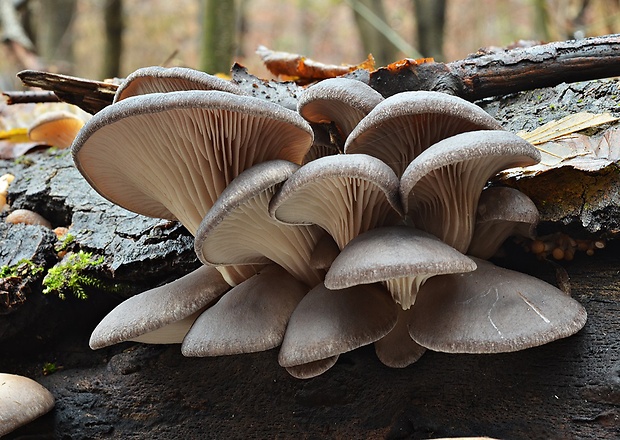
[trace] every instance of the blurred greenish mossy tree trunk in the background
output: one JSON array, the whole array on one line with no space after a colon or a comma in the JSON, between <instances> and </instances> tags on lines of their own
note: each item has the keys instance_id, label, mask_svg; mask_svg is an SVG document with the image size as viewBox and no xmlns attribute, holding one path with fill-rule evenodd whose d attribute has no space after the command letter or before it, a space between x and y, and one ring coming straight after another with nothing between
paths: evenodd
<instances>
[{"instance_id":1,"label":"blurred greenish mossy tree trunk in the background","mask_svg":"<svg viewBox=\"0 0 620 440\"><path fill-rule=\"evenodd\" d=\"M207 73L229 73L236 48L236 2L206 0L202 26L200 68Z\"/></svg>"}]
</instances>

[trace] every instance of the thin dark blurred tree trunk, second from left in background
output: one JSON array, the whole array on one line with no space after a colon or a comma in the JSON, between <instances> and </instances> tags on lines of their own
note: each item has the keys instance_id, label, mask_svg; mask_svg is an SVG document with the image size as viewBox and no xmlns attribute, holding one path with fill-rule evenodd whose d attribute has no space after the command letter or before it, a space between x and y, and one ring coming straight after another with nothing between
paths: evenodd
<instances>
[{"instance_id":1,"label":"thin dark blurred tree trunk, second from left in background","mask_svg":"<svg viewBox=\"0 0 620 440\"><path fill-rule=\"evenodd\" d=\"M120 76L123 53L123 0L105 0L103 6L105 23L105 48L101 78Z\"/></svg>"}]
</instances>

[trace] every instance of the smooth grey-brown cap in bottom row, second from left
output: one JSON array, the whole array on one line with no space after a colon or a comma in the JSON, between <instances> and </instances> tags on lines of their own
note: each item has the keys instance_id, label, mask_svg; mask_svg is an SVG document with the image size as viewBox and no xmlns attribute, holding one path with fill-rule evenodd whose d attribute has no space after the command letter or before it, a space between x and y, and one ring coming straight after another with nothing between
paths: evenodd
<instances>
[{"instance_id":1,"label":"smooth grey-brown cap in bottom row, second from left","mask_svg":"<svg viewBox=\"0 0 620 440\"><path fill-rule=\"evenodd\" d=\"M222 356L277 347L307 291L305 284L283 268L267 266L202 312L181 352L184 356Z\"/></svg>"}]
</instances>

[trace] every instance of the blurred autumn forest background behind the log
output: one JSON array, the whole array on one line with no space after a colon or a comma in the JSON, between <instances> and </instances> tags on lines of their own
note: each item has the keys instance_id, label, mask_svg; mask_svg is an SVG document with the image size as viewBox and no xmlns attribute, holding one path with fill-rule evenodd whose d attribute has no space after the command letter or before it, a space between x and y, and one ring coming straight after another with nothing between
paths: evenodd
<instances>
[{"instance_id":1,"label":"blurred autumn forest background behind the log","mask_svg":"<svg viewBox=\"0 0 620 440\"><path fill-rule=\"evenodd\" d=\"M35 68L89 79L149 65L269 73L259 45L376 66L616 33L620 0L0 0L0 87Z\"/></svg>"}]
</instances>

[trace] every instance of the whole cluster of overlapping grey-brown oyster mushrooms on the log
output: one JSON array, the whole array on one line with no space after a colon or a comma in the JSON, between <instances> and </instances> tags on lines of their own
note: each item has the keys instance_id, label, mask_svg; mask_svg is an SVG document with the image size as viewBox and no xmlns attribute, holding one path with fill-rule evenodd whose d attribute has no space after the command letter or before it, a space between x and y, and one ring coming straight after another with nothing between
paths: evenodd
<instances>
[{"instance_id":1,"label":"whole cluster of overlapping grey-brown oyster mushrooms on the log","mask_svg":"<svg viewBox=\"0 0 620 440\"><path fill-rule=\"evenodd\" d=\"M204 264L121 303L93 349L279 346L279 364L310 378L367 344L405 367L426 349L521 350L586 321L559 289L485 260L538 219L527 197L489 179L540 154L447 94L384 99L335 78L308 87L294 111L202 72L145 68L72 153L111 202L182 222Z\"/></svg>"}]
</instances>

